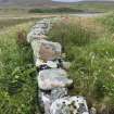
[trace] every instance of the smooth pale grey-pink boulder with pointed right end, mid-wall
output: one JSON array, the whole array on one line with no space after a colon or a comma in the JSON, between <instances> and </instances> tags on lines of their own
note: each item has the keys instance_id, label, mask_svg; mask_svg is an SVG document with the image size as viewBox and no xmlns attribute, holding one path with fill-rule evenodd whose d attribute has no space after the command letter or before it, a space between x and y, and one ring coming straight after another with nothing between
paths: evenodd
<instances>
[{"instance_id":1,"label":"smooth pale grey-pink boulder with pointed right end, mid-wall","mask_svg":"<svg viewBox=\"0 0 114 114\"><path fill-rule=\"evenodd\" d=\"M38 86L42 90L51 90L56 87L68 87L73 84L67 74L61 68L50 68L39 72Z\"/></svg>"}]
</instances>

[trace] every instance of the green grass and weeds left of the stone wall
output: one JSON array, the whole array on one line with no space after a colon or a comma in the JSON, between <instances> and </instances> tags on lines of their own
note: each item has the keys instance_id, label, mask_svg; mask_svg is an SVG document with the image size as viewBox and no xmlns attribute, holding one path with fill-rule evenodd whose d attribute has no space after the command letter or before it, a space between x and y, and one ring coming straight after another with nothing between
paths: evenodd
<instances>
[{"instance_id":1,"label":"green grass and weeds left of the stone wall","mask_svg":"<svg viewBox=\"0 0 114 114\"><path fill-rule=\"evenodd\" d=\"M23 23L0 33L0 114L37 112L33 52L29 45L17 40L17 33L28 31L33 24Z\"/></svg>"}]
</instances>

